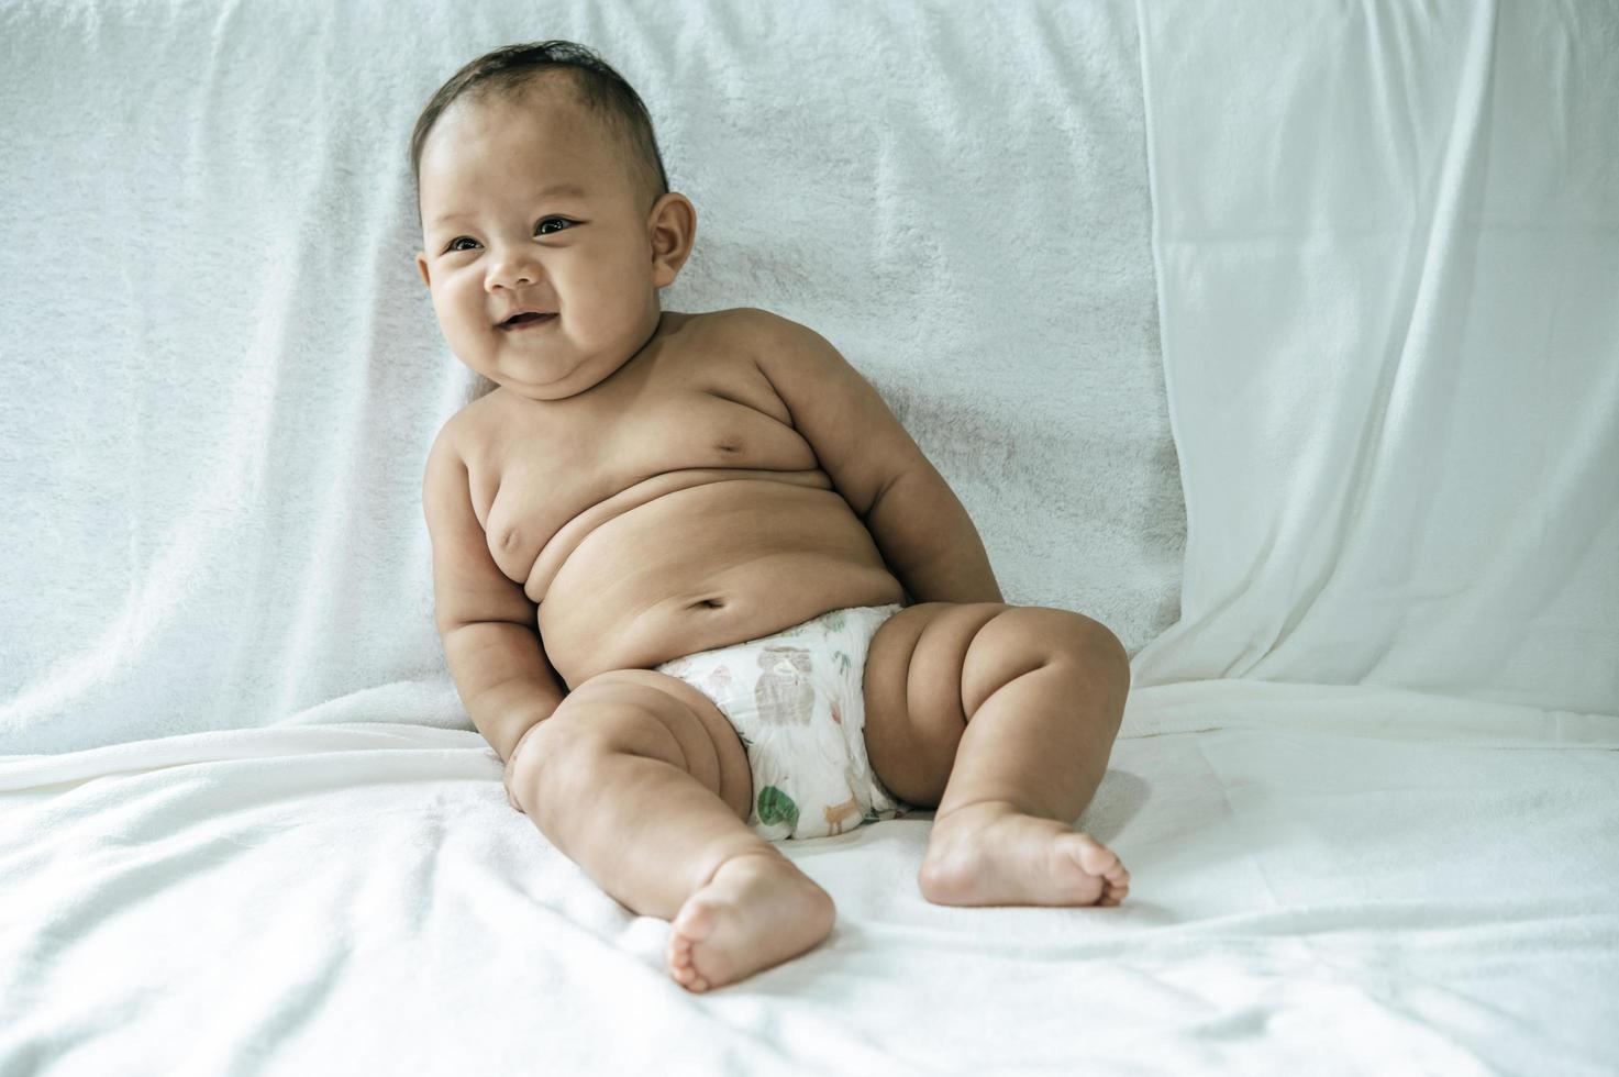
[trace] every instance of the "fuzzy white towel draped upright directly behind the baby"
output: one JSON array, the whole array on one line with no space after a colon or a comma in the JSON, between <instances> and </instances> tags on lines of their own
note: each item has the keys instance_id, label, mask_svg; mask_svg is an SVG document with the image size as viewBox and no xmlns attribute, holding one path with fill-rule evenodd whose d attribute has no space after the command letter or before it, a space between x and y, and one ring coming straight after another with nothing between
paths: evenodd
<instances>
[{"instance_id":1,"label":"fuzzy white towel draped upright directly behind the baby","mask_svg":"<svg viewBox=\"0 0 1619 1077\"><path fill-rule=\"evenodd\" d=\"M644 96L670 309L822 332L1007 599L1177 614L1135 13L1103 5L0 2L0 755L282 722L468 727L421 471L470 377L406 160L473 57Z\"/></svg>"}]
</instances>

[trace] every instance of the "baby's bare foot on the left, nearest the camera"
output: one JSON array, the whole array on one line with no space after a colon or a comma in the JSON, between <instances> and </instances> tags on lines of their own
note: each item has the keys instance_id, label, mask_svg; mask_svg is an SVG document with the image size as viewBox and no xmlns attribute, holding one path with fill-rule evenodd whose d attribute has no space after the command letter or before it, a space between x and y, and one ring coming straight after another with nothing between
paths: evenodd
<instances>
[{"instance_id":1,"label":"baby's bare foot on the left, nearest the camera","mask_svg":"<svg viewBox=\"0 0 1619 1077\"><path fill-rule=\"evenodd\" d=\"M665 962L688 991L708 991L797 957L832 933L832 897L779 854L719 866L675 913Z\"/></svg>"}]
</instances>

